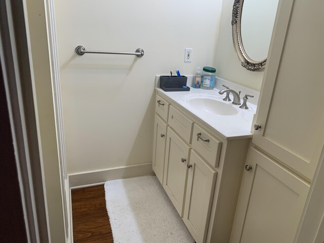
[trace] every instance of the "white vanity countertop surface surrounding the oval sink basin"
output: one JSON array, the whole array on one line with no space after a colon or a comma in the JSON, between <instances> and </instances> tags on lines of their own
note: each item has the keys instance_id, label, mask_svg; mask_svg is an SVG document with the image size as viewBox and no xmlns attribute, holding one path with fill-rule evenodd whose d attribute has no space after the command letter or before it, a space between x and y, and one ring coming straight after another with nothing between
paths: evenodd
<instances>
[{"instance_id":1,"label":"white vanity countertop surface surrounding the oval sink basin","mask_svg":"<svg viewBox=\"0 0 324 243\"><path fill-rule=\"evenodd\" d=\"M161 94L164 94L170 101L181 105L185 110L196 117L201 123L204 123L216 133L222 135L225 139L239 139L239 138L251 138L253 133L251 132L251 126L253 116L256 112L257 106L248 102L249 109L240 109L238 105L231 104L233 108L237 110L237 114L234 115L217 115L209 112L208 110L198 110L192 107L186 100L189 95L216 95L224 98L224 95L219 95L219 90L203 90L194 89L190 87L190 91L179 91L179 92L165 92L160 88L155 88ZM242 94L241 94L242 95ZM233 100L232 94L230 94L231 100ZM221 100L221 99L220 99ZM241 102L242 99L241 99Z\"/></svg>"}]
</instances>

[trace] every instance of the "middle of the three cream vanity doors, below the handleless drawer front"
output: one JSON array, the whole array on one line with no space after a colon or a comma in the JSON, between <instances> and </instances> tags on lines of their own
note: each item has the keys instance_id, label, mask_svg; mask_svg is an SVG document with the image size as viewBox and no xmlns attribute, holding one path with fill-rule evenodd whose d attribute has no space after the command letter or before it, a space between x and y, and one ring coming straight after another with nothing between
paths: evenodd
<instances>
[{"instance_id":1,"label":"middle of the three cream vanity doors, below the handleless drawer front","mask_svg":"<svg viewBox=\"0 0 324 243\"><path fill-rule=\"evenodd\" d=\"M183 216L190 147L168 128L163 187L179 215Z\"/></svg>"}]
</instances>

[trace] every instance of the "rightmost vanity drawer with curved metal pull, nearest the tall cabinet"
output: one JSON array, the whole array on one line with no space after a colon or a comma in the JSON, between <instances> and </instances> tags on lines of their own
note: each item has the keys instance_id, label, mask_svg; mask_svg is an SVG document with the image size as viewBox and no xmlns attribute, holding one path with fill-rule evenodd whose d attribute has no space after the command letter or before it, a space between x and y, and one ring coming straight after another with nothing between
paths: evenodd
<instances>
[{"instance_id":1,"label":"rightmost vanity drawer with curved metal pull, nearest the tall cabinet","mask_svg":"<svg viewBox=\"0 0 324 243\"><path fill-rule=\"evenodd\" d=\"M193 126L192 148L196 150L212 167L218 167L222 142L200 128Z\"/></svg>"}]
</instances>

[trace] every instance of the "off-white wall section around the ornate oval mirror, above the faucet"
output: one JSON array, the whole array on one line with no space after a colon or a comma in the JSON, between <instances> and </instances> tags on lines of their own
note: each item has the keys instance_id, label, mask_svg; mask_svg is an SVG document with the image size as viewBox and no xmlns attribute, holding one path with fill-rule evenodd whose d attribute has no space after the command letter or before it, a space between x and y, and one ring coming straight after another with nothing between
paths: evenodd
<instances>
[{"instance_id":1,"label":"off-white wall section around the ornate oval mirror, above the faucet","mask_svg":"<svg viewBox=\"0 0 324 243\"><path fill-rule=\"evenodd\" d=\"M242 67L236 57L232 42L232 9L234 1L224 0L215 56L217 76L230 82L260 91L263 72L252 72Z\"/></svg>"}]
</instances>

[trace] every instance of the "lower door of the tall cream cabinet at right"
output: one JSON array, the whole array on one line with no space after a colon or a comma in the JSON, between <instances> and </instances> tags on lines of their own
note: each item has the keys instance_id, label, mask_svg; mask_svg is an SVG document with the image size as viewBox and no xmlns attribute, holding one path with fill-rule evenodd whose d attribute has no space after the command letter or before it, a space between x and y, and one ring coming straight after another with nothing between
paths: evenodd
<instances>
[{"instance_id":1,"label":"lower door of the tall cream cabinet at right","mask_svg":"<svg viewBox=\"0 0 324 243\"><path fill-rule=\"evenodd\" d=\"M230 242L293 242L309 185L254 147L247 161Z\"/></svg>"}]
</instances>

